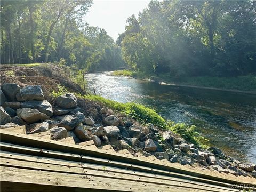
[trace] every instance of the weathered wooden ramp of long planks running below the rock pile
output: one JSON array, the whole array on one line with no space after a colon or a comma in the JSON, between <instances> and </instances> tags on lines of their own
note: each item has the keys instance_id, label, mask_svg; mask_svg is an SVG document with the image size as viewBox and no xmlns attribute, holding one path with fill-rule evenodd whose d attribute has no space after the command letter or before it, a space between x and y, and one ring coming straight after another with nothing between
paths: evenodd
<instances>
[{"instance_id":1,"label":"weathered wooden ramp of long planks running below the rock pile","mask_svg":"<svg viewBox=\"0 0 256 192\"><path fill-rule=\"evenodd\" d=\"M0 130L1 191L243 191L256 179ZM153 159L154 158L154 159Z\"/></svg>"}]
</instances>

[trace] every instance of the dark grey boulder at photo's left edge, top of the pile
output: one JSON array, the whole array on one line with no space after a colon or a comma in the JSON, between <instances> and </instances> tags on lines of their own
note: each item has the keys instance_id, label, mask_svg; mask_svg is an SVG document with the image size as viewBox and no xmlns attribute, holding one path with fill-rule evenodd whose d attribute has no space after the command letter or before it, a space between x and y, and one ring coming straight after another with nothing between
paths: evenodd
<instances>
[{"instance_id":1,"label":"dark grey boulder at photo's left edge, top of the pile","mask_svg":"<svg viewBox=\"0 0 256 192\"><path fill-rule=\"evenodd\" d=\"M8 101L14 101L16 100L16 94L20 91L20 86L16 83L4 83L1 90Z\"/></svg>"}]
</instances>

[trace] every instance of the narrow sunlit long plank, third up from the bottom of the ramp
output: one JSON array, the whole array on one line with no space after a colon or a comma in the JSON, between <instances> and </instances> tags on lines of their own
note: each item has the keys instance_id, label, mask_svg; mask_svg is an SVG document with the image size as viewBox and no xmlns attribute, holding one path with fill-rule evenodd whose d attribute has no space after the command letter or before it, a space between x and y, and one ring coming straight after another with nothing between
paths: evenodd
<instances>
[{"instance_id":1,"label":"narrow sunlit long plank, third up from the bottom of the ramp","mask_svg":"<svg viewBox=\"0 0 256 192\"><path fill-rule=\"evenodd\" d=\"M15 160L24 160L27 161L30 165L30 162L40 162L44 163L47 165L61 165L61 166L67 166L67 167L83 167L85 169L93 169L93 170L101 170L101 171L107 171L113 172L113 173L122 173L129 175L128 177L131 178L131 175L135 175L137 177L144 177L144 178L151 178L151 179L161 179L161 180L166 180L166 181L177 181L177 182L183 182L183 183L188 183L189 185L196 184L198 186L203 186L203 187L211 187L211 188L217 188L217 189L225 189L222 187L218 186L213 186L213 185L206 185L205 183L200 183L200 182L195 182L195 181L189 181L189 180L182 180L178 178L171 178L171 177L164 177L162 175L155 175L155 174L149 174L149 173L142 173L142 172L134 172L134 171L129 171L129 170L123 170L123 169L117 169L115 167L102 167L99 165L93 165L93 164L85 164L83 163L78 164L76 162L70 162L70 161L63 161L59 159L52 159L52 158L44 158L44 157L38 157L38 156L28 156L28 155L22 155L22 154L15 154L15 153L6 153L2 151L0 153L0 157L6 158L6 159L15 159ZM41 166L40 166L41 167ZM230 191L237 191L237 190L230 190Z\"/></svg>"}]
</instances>

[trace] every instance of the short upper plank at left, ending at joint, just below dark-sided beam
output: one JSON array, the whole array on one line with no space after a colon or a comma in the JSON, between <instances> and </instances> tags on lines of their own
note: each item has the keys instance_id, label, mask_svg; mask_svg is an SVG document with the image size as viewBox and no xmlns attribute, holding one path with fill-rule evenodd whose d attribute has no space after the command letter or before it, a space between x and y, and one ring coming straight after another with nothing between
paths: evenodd
<instances>
[{"instance_id":1,"label":"short upper plank at left, ending at joint, just below dark-sided beam","mask_svg":"<svg viewBox=\"0 0 256 192\"><path fill-rule=\"evenodd\" d=\"M77 154L63 153L59 151L38 149L38 148L32 148L32 147L23 147L19 145L13 145L13 144L11 145L9 143L4 143L4 142L0 143L0 147L1 147L1 150L10 151L13 153L45 156L45 157L66 159L66 160L72 160L72 161L80 161L81 159L81 156Z\"/></svg>"}]
</instances>

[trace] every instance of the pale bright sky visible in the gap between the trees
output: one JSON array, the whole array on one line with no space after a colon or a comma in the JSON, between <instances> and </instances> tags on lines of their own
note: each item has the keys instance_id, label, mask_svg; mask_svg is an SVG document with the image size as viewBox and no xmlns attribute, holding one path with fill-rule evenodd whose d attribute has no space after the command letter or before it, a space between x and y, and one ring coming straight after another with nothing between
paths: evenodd
<instances>
[{"instance_id":1,"label":"pale bright sky visible in the gap between the trees","mask_svg":"<svg viewBox=\"0 0 256 192\"><path fill-rule=\"evenodd\" d=\"M90 26L104 28L114 41L125 30L126 20L145 9L150 0L94 0L83 18Z\"/></svg>"}]
</instances>

